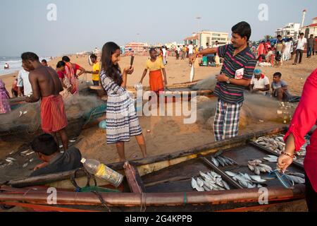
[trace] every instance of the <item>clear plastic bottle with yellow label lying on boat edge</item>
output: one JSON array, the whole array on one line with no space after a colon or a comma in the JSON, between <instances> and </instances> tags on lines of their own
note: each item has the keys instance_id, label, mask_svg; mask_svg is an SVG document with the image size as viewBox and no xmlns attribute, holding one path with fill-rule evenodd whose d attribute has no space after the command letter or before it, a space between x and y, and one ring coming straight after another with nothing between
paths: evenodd
<instances>
[{"instance_id":1,"label":"clear plastic bottle with yellow label lying on boat edge","mask_svg":"<svg viewBox=\"0 0 317 226\"><path fill-rule=\"evenodd\" d=\"M123 182L122 174L101 164L98 160L86 160L83 158L81 162L89 173L94 174L100 179L106 180L106 182L111 183L113 186L118 187Z\"/></svg>"}]
</instances>

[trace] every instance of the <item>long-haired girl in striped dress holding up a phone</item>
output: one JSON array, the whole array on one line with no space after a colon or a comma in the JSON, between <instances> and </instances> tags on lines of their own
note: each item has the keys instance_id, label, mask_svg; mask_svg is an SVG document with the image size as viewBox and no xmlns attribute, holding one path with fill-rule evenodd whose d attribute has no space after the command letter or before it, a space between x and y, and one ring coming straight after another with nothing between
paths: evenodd
<instances>
[{"instance_id":1,"label":"long-haired girl in striped dress holding up a phone","mask_svg":"<svg viewBox=\"0 0 317 226\"><path fill-rule=\"evenodd\" d=\"M107 42L102 49L100 73L101 84L108 93L107 143L116 144L120 161L125 162L125 142L129 142L131 136L137 138L143 157L147 157L147 148L135 112L134 101L125 90L127 75L132 74L134 69L128 67L121 74L119 61L120 47L114 42Z\"/></svg>"}]
</instances>

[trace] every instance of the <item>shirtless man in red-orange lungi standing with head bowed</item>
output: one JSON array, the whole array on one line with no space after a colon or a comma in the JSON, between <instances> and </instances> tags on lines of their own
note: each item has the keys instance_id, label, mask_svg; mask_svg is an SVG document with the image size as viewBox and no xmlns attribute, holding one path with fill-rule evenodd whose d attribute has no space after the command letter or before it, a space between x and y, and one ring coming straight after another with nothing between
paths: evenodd
<instances>
[{"instance_id":1,"label":"shirtless man in red-orange lungi standing with head bowed","mask_svg":"<svg viewBox=\"0 0 317 226\"><path fill-rule=\"evenodd\" d=\"M26 102L37 102L41 99L41 119L44 133L51 133L57 140L61 136L63 149L68 150L68 124L63 98L59 93L63 86L54 69L43 66L37 54L25 52L21 56L23 67L30 71L29 79L32 85L32 95L26 97Z\"/></svg>"}]
</instances>

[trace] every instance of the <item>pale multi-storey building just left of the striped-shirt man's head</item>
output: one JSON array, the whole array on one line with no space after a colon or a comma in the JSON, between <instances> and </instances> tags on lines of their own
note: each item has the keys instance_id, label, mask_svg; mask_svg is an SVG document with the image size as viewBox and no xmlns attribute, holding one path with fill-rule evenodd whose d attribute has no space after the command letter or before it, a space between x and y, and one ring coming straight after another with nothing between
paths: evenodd
<instances>
[{"instance_id":1,"label":"pale multi-storey building just left of the striped-shirt man's head","mask_svg":"<svg viewBox=\"0 0 317 226\"><path fill-rule=\"evenodd\" d=\"M225 32L201 31L193 33L192 37L187 37L184 41L186 45L190 44L192 41L194 45L206 48L207 42L211 45L211 47L216 44L216 41L218 41L219 45L228 44L229 34Z\"/></svg>"}]
</instances>

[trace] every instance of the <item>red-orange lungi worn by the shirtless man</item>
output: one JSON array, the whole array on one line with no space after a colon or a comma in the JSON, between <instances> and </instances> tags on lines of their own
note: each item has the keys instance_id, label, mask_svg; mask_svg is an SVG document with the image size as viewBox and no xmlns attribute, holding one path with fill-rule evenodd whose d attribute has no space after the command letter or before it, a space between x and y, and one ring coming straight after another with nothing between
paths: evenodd
<instances>
[{"instance_id":1,"label":"red-orange lungi worn by the shirtless man","mask_svg":"<svg viewBox=\"0 0 317 226\"><path fill-rule=\"evenodd\" d=\"M42 97L41 119L44 133L54 133L66 128L68 122L61 95Z\"/></svg>"}]
</instances>

